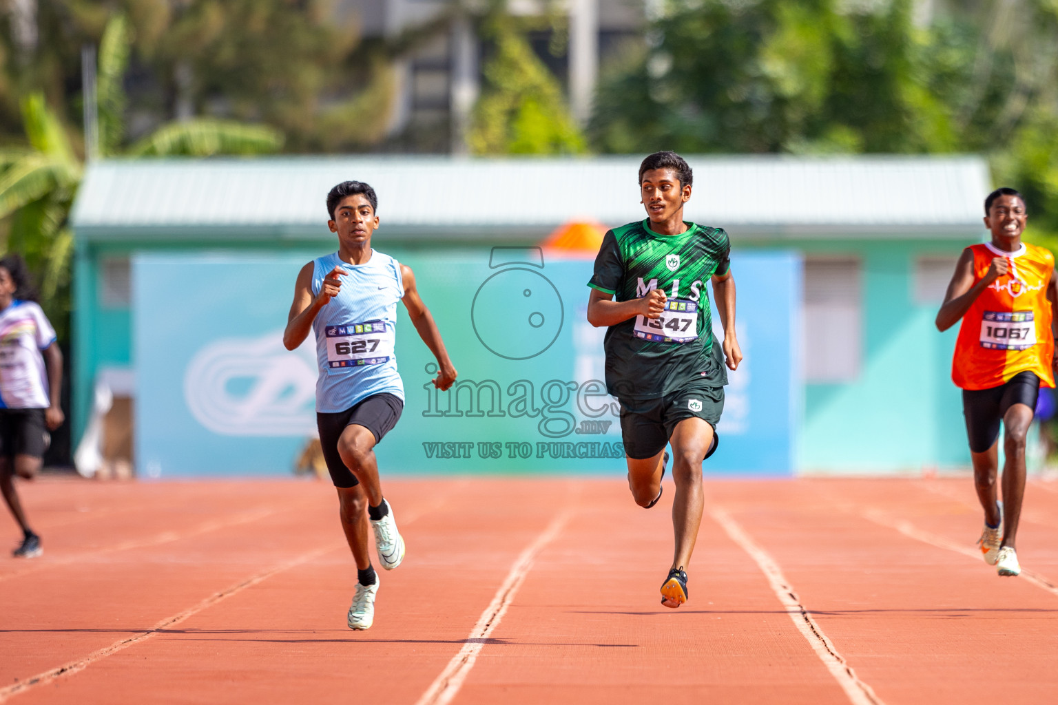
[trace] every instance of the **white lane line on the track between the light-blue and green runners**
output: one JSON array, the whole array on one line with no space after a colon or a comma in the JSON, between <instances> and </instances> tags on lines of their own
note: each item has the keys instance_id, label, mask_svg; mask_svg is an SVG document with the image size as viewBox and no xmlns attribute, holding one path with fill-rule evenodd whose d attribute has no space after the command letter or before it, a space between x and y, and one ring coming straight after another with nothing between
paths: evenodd
<instances>
[{"instance_id":1,"label":"white lane line on the track between the light-blue and green runners","mask_svg":"<svg viewBox=\"0 0 1058 705\"><path fill-rule=\"evenodd\" d=\"M499 621L507 613L507 608L510 607L514 595L518 592L518 588L522 587L526 575L529 574L536 554L545 545L554 540L559 532L569 521L571 514L569 509L559 514L559 516L551 520L551 523L547 525L543 533L518 555L514 564L511 565L507 578L499 586L499 590L496 591L492 601L489 602L489 607L485 608L485 612L481 613L477 624L474 625L474 629L471 630L462 648L452 657L452 661L444 667L440 675L430 684L430 687L422 693L422 697L416 701L416 705L445 705L456 697L459 688L462 687L463 681L467 680L470 669L474 668L477 654L485 647L489 635L499 626Z\"/></svg>"}]
</instances>

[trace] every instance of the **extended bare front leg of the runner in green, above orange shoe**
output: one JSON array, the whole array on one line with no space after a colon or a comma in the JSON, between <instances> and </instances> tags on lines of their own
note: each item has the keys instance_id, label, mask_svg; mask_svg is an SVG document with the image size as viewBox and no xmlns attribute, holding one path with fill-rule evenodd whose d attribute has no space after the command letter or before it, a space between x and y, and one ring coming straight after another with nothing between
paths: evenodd
<instances>
[{"instance_id":1,"label":"extended bare front leg of the runner in green, above orange shoe","mask_svg":"<svg viewBox=\"0 0 1058 705\"><path fill-rule=\"evenodd\" d=\"M713 427L697 418L685 419L672 432L672 479L676 496L672 503L672 527L676 548L672 567L689 565L698 538L705 495L701 488L701 461L713 442Z\"/></svg>"}]
</instances>

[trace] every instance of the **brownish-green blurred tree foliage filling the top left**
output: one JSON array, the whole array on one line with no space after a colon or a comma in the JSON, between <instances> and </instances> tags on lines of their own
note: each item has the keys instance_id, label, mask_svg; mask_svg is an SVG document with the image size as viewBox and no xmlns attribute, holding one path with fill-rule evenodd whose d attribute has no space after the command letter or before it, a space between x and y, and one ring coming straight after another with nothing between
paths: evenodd
<instances>
[{"instance_id":1,"label":"brownish-green blurred tree foliage filling the top left","mask_svg":"<svg viewBox=\"0 0 1058 705\"><path fill-rule=\"evenodd\" d=\"M295 152L377 146L397 88L394 58L445 32L451 17L442 12L423 26L363 41L357 17L336 15L334 0L20 4L37 7L37 41L20 44L16 13L0 13L0 144L22 141L20 99L40 91L81 150L80 51L90 44L101 67L110 56L110 66L129 68L99 74L104 153L191 116L269 125ZM123 26L111 22L115 16L126 18Z\"/></svg>"}]
</instances>

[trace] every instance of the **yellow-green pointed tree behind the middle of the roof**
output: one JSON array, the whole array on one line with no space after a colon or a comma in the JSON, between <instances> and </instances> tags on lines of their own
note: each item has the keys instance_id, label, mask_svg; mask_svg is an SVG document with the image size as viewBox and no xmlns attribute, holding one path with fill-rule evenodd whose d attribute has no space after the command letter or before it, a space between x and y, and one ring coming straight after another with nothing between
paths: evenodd
<instances>
[{"instance_id":1,"label":"yellow-green pointed tree behind the middle of the roof","mask_svg":"<svg viewBox=\"0 0 1058 705\"><path fill-rule=\"evenodd\" d=\"M474 107L468 143L477 154L576 154L584 137L569 115L562 89L533 53L518 20L495 14L486 23L493 56Z\"/></svg>"}]
</instances>

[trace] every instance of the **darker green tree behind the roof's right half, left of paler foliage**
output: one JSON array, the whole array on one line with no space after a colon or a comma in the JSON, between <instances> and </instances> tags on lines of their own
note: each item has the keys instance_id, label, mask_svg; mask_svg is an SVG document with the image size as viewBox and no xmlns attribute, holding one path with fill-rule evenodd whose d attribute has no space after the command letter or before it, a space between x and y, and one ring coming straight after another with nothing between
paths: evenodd
<instances>
[{"instance_id":1,"label":"darker green tree behind the roof's right half, left of paler foliage","mask_svg":"<svg viewBox=\"0 0 1058 705\"><path fill-rule=\"evenodd\" d=\"M940 97L965 72L941 66L957 36L928 41L910 0L871 12L837 0L669 7L603 80L591 136L604 151L659 142L705 152L959 147Z\"/></svg>"}]
</instances>

